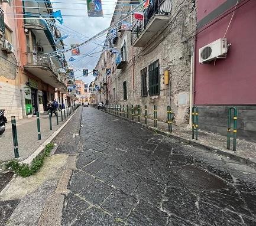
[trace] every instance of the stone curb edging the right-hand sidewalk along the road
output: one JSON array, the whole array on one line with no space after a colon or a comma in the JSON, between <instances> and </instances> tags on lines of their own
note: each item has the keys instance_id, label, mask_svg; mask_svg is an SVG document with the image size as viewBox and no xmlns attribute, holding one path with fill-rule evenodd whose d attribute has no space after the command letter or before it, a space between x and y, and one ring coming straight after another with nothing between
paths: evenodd
<instances>
[{"instance_id":1,"label":"stone curb edging the right-hand sidewalk along the road","mask_svg":"<svg viewBox=\"0 0 256 226\"><path fill-rule=\"evenodd\" d=\"M102 110L102 112L104 112L104 111ZM115 117L119 117L119 118L124 119L124 120L127 120L128 122L140 125L140 126L146 128L146 129L151 130L152 132L158 133L160 135L167 136L167 137L172 137L172 138L177 139L180 142L185 143L187 145L197 146L199 148L203 148L203 149L209 150L210 152L214 152L214 153L217 153L219 155L228 157L228 158L230 158L230 159L232 159L232 160L234 160L236 162L241 162L241 163L244 163L244 164L246 164L248 166L256 168L256 159L243 158L241 156L237 156L237 155L234 155L232 153L225 152L224 150L221 150L221 149L218 149L218 148L214 148L212 146L203 145L202 143L196 142L195 140L190 140L190 139L186 139L186 138L183 138L183 137L180 137L180 136L177 136L177 135L173 135L173 134L171 134L169 132L166 132L164 130L158 129L156 127L152 127L152 126L148 126L148 125L142 124L141 122L135 122L135 121L133 121L131 119L127 119L127 118L122 117L122 116L111 114L109 112L105 112L105 113L110 114L110 115L115 116Z\"/></svg>"}]
</instances>

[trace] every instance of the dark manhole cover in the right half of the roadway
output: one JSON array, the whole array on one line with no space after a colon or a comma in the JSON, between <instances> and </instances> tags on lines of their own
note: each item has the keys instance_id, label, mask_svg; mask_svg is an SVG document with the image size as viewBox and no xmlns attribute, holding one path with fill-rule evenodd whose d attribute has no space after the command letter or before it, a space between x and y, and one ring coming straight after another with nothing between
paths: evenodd
<instances>
[{"instance_id":1,"label":"dark manhole cover in the right half of the roadway","mask_svg":"<svg viewBox=\"0 0 256 226\"><path fill-rule=\"evenodd\" d=\"M211 191L226 187L226 183L222 179L194 166L183 166L178 174L188 187L199 189L199 191Z\"/></svg>"}]
</instances>

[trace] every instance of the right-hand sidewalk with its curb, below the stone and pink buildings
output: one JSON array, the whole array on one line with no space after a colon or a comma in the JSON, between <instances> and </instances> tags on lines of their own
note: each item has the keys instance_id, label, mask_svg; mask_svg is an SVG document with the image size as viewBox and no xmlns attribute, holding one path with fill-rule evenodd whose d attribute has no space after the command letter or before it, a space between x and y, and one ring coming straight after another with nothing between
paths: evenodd
<instances>
[{"instance_id":1,"label":"right-hand sidewalk with its curb, below the stone and pink buildings","mask_svg":"<svg viewBox=\"0 0 256 226\"><path fill-rule=\"evenodd\" d=\"M108 113L108 112L106 112ZM145 118L141 116L141 122L138 122L138 116L134 115L134 120L131 120L131 113L129 114L129 119L127 119L127 114L122 113L121 116L126 120L135 123L141 123L142 126L148 129L155 130L158 133L162 133L166 136L175 137L183 142L189 143L191 145L199 145L212 150L220 155L226 156L238 162L244 162L251 166L256 166L256 143L248 142L246 140L236 139L236 152L232 151L232 137L231 137L231 150L226 149L226 136L218 135L215 133L205 132L199 130L198 140L192 140L192 128L180 127L173 125L173 132L168 132L168 124L165 122L157 122L157 128L154 127L154 120L147 120L147 125L145 125ZM200 125L199 125L200 128Z\"/></svg>"}]
</instances>

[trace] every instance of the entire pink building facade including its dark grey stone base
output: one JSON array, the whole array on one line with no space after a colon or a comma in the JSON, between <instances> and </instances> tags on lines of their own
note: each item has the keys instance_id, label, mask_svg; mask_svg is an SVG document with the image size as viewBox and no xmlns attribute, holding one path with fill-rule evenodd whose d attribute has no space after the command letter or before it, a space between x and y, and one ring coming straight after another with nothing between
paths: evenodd
<instances>
[{"instance_id":1,"label":"entire pink building facade including its dark grey stone base","mask_svg":"<svg viewBox=\"0 0 256 226\"><path fill-rule=\"evenodd\" d=\"M238 109L238 137L255 142L255 1L197 1L195 105L200 129L226 135L228 109ZM199 63L199 49L226 38L228 53Z\"/></svg>"}]
</instances>

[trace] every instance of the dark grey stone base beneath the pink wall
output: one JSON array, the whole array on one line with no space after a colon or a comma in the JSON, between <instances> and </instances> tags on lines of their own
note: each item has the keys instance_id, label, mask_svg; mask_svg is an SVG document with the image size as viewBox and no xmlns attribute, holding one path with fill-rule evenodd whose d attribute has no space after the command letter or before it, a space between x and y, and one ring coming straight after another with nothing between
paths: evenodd
<instances>
[{"instance_id":1,"label":"dark grey stone base beneath the pink wall","mask_svg":"<svg viewBox=\"0 0 256 226\"><path fill-rule=\"evenodd\" d=\"M197 106L199 129L226 135L228 109L231 106ZM238 109L237 137L252 142L256 140L256 106L235 106ZM233 112L232 112L233 118ZM233 120L231 121L233 126Z\"/></svg>"}]
</instances>

